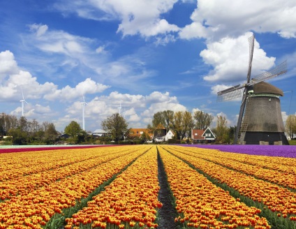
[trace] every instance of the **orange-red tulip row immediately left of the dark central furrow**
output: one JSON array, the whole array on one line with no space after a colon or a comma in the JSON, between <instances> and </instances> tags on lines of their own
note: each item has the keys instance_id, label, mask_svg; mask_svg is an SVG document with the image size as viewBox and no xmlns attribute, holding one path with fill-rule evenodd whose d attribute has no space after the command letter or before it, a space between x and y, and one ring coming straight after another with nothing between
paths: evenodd
<instances>
[{"instance_id":1,"label":"orange-red tulip row immediately left of the dark central furrow","mask_svg":"<svg viewBox=\"0 0 296 229\"><path fill-rule=\"evenodd\" d=\"M156 146L140 156L124 172L94 196L72 218L66 229L91 225L91 228L156 228L158 201Z\"/></svg>"}]
</instances>

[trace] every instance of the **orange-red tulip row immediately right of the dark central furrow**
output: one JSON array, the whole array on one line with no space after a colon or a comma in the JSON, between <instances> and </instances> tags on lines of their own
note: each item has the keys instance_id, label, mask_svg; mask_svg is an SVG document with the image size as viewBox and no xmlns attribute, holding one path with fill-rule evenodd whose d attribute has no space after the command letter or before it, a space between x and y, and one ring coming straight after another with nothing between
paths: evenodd
<instances>
[{"instance_id":1,"label":"orange-red tulip row immediately right of the dark central furrow","mask_svg":"<svg viewBox=\"0 0 296 229\"><path fill-rule=\"evenodd\" d=\"M215 186L165 147L158 147L179 216L187 228L271 228L258 216L260 209L248 207L228 191Z\"/></svg>"}]
</instances>

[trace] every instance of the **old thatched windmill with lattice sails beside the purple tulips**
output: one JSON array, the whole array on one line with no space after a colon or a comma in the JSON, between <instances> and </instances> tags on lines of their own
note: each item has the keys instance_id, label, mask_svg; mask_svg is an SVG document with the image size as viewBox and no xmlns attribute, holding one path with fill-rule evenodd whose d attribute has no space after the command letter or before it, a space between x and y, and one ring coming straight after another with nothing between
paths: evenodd
<instances>
[{"instance_id":1,"label":"old thatched windmill with lattice sails beside the purple tulips","mask_svg":"<svg viewBox=\"0 0 296 229\"><path fill-rule=\"evenodd\" d=\"M265 82L286 73L287 61L251 79L254 39L254 36L249 38L246 83L219 91L217 101L229 101L242 96L234 144L288 145L279 100L283 91Z\"/></svg>"}]
</instances>

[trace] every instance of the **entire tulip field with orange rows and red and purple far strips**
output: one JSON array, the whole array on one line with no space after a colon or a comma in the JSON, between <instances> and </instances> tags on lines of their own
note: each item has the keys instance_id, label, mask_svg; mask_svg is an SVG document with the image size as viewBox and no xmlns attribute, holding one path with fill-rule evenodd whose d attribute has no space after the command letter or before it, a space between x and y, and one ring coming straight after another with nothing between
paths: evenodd
<instances>
[{"instance_id":1,"label":"entire tulip field with orange rows and red and purple far strips","mask_svg":"<svg viewBox=\"0 0 296 229\"><path fill-rule=\"evenodd\" d=\"M0 148L0 229L296 229L296 147L215 147Z\"/></svg>"}]
</instances>

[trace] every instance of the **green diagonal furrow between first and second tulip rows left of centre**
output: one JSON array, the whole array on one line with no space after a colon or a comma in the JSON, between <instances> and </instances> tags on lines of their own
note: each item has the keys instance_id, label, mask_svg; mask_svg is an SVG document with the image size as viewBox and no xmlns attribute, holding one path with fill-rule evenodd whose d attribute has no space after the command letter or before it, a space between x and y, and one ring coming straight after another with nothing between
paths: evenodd
<instances>
[{"instance_id":1,"label":"green diagonal furrow between first and second tulip rows left of centre","mask_svg":"<svg viewBox=\"0 0 296 229\"><path fill-rule=\"evenodd\" d=\"M105 186L108 186L109 184L111 184L114 181L114 179L117 178L118 175L120 175L122 172L124 172L140 156L146 154L148 151L149 151L149 149L147 149L145 152L143 152L142 154L140 154L139 156L137 156L133 161L131 161L131 163L128 163L128 165L126 165L120 172L118 172L117 174L113 175L110 179L108 179L103 184L101 184L96 189L94 189L93 192L89 193L89 195L87 196L87 198L81 198L80 200L76 200L76 205L74 207L68 207L68 208L62 209L62 211L61 211L60 214L59 213L55 213L52 216L52 218L50 218L50 221L48 221L45 226L42 226L42 228L45 228L45 229L61 229L61 228L64 228L64 226L66 226L66 221L65 221L66 218L71 218L73 216L73 214L79 212L84 207L87 207L87 202L89 202L90 200L92 200L92 198L95 195L98 195L99 193L101 193L101 191L103 191L105 189ZM90 224L89 225L86 225L86 226L84 226L84 228L91 228L91 225Z\"/></svg>"}]
</instances>

